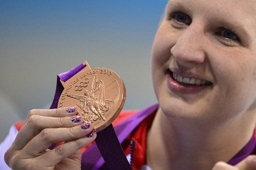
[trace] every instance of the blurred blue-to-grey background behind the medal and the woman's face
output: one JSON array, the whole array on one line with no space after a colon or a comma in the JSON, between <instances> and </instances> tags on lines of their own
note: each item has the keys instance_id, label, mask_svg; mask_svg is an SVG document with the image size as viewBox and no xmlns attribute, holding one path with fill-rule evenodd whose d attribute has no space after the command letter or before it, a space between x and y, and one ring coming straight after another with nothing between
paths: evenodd
<instances>
[{"instance_id":1,"label":"blurred blue-to-grey background behind the medal and the woman's face","mask_svg":"<svg viewBox=\"0 0 256 170\"><path fill-rule=\"evenodd\" d=\"M150 50L167 0L0 0L0 142L49 108L57 73L84 60L117 72L124 109L156 103Z\"/></svg>"}]
</instances>

